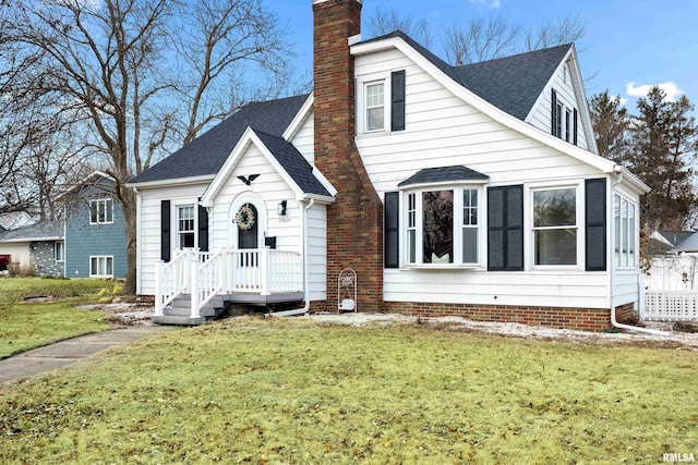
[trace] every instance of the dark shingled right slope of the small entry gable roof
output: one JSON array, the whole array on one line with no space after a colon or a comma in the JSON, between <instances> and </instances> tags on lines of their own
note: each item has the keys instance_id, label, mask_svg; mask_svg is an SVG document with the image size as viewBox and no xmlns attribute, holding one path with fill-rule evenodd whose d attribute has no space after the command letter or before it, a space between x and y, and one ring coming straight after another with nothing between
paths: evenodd
<instances>
[{"instance_id":1,"label":"dark shingled right slope of the small entry gable roof","mask_svg":"<svg viewBox=\"0 0 698 465\"><path fill-rule=\"evenodd\" d=\"M313 167L311 167L293 144L287 142L284 137L273 136L261 131L254 132L260 136L260 140L269 149L272 155L274 155L274 158L284 167L284 170L286 170L305 194L332 196L313 174Z\"/></svg>"}]
</instances>

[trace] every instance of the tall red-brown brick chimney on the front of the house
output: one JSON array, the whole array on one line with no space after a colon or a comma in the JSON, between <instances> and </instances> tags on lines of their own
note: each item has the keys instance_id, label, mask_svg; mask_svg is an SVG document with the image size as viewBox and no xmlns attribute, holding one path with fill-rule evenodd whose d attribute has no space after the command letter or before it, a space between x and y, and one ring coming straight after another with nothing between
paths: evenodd
<instances>
[{"instance_id":1,"label":"tall red-brown brick chimney on the front of the house","mask_svg":"<svg viewBox=\"0 0 698 465\"><path fill-rule=\"evenodd\" d=\"M354 72L349 37L361 30L360 0L313 0L315 166L337 189L327 208L327 310L337 277L357 271L359 311L383 303L383 203L354 143Z\"/></svg>"}]
</instances>

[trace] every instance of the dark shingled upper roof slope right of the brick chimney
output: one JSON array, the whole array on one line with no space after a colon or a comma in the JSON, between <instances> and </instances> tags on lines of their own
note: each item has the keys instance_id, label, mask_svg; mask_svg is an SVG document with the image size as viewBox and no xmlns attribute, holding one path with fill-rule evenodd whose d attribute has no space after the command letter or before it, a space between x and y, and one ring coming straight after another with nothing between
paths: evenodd
<instances>
[{"instance_id":1,"label":"dark shingled upper roof slope right of the brick chimney","mask_svg":"<svg viewBox=\"0 0 698 465\"><path fill-rule=\"evenodd\" d=\"M498 109L525 120L571 44L480 63L452 66L401 30L364 40L399 37L461 86Z\"/></svg>"}]
</instances>

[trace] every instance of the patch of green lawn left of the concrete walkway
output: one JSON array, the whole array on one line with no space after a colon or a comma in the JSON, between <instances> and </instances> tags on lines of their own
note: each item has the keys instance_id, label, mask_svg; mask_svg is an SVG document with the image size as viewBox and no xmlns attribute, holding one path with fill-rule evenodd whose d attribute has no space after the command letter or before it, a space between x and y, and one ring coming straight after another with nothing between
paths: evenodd
<instances>
[{"instance_id":1,"label":"patch of green lawn left of the concrete walkway","mask_svg":"<svg viewBox=\"0 0 698 465\"><path fill-rule=\"evenodd\" d=\"M113 283L95 280L56 280L38 278L0 279L0 359L35 347L104 331L109 322L94 310L79 310L75 305L96 302L100 290ZM24 303L36 295L62 296L44 304Z\"/></svg>"}]
</instances>

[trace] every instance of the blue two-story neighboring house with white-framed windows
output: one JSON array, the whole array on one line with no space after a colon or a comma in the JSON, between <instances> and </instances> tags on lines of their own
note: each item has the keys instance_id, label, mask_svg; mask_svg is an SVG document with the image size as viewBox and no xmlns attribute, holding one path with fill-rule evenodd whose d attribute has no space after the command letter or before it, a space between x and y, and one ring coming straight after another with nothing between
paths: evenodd
<instances>
[{"instance_id":1,"label":"blue two-story neighboring house with white-framed windows","mask_svg":"<svg viewBox=\"0 0 698 465\"><path fill-rule=\"evenodd\" d=\"M65 277L125 278L127 237L115 180L95 171L65 199Z\"/></svg>"}]
</instances>

